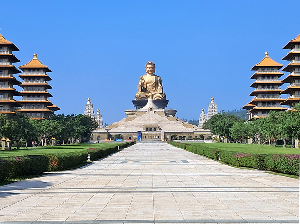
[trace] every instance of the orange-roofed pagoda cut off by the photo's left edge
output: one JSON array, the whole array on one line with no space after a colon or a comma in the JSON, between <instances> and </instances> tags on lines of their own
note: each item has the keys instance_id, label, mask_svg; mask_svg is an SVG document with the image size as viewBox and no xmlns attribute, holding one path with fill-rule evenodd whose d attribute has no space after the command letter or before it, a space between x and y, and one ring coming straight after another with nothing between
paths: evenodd
<instances>
[{"instance_id":1,"label":"orange-roofed pagoda cut off by the photo's left edge","mask_svg":"<svg viewBox=\"0 0 300 224\"><path fill-rule=\"evenodd\" d=\"M15 107L22 107L13 97L21 94L13 87L19 85L21 82L17 81L13 74L20 73L20 71L12 64L20 62L13 51L19 49L10 41L6 40L0 34L0 113L14 114Z\"/></svg>"}]
</instances>

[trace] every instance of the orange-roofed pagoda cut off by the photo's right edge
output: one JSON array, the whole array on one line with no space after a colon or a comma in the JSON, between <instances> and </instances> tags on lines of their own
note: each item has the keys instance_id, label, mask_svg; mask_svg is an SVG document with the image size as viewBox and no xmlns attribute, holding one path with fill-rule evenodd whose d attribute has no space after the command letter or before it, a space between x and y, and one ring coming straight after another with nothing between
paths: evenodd
<instances>
[{"instance_id":1,"label":"orange-roofed pagoda cut off by the photo's right edge","mask_svg":"<svg viewBox=\"0 0 300 224\"><path fill-rule=\"evenodd\" d=\"M290 61L282 71L290 74L282 80L283 83L289 83L285 90L280 94L289 94L282 105L288 105L288 110L292 110L295 104L300 102L300 34L293 40L290 40L283 49L289 49L287 55L282 60Z\"/></svg>"}]
</instances>

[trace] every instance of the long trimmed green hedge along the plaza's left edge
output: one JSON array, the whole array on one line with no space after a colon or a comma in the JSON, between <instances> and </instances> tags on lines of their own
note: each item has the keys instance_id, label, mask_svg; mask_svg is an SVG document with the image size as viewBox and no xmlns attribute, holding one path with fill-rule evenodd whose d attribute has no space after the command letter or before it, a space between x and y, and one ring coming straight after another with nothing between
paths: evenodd
<instances>
[{"instance_id":1,"label":"long trimmed green hedge along the plaza's left edge","mask_svg":"<svg viewBox=\"0 0 300 224\"><path fill-rule=\"evenodd\" d=\"M120 143L120 148L126 148L135 142ZM59 154L28 155L5 157L0 159L0 181L26 175L41 174L45 171L59 171L82 164L91 155L91 160L107 156L118 151L118 145L108 145L99 148Z\"/></svg>"}]
</instances>

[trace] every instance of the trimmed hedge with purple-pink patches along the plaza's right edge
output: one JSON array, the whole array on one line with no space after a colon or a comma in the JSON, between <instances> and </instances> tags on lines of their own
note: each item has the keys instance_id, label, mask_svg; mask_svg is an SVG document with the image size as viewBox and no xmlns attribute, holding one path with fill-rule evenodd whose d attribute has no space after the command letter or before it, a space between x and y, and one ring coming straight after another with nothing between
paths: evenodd
<instances>
[{"instance_id":1,"label":"trimmed hedge with purple-pink patches along the plaza's right edge","mask_svg":"<svg viewBox=\"0 0 300 224\"><path fill-rule=\"evenodd\" d=\"M220 159L234 166L299 175L299 155L239 153L215 149L201 144L190 145L188 143L173 141L168 141L168 143L198 155L203 155L211 159Z\"/></svg>"}]
</instances>

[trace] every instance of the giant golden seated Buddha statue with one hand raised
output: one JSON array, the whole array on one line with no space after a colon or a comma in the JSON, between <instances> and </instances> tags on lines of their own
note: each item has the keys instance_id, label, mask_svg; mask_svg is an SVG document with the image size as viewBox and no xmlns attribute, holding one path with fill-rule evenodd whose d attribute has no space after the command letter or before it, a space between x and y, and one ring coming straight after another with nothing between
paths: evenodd
<instances>
[{"instance_id":1,"label":"giant golden seated Buddha statue with one hand raised","mask_svg":"<svg viewBox=\"0 0 300 224\"><path fill-rule=\"evenodd\" d=\"M148 100L149 93L153 95L154 100L166 99L166 94L163 93L162 79L155 75L155 64L153 61L148 61L145 66L146 74L141 76L138 81L138 92L135 94L136 100Z\"/></svg>"}]
</instances>

